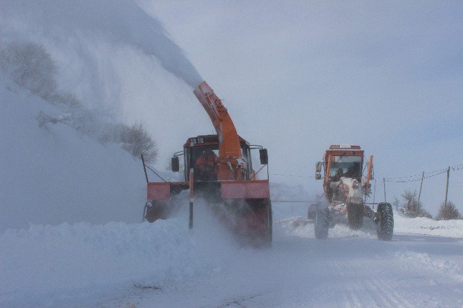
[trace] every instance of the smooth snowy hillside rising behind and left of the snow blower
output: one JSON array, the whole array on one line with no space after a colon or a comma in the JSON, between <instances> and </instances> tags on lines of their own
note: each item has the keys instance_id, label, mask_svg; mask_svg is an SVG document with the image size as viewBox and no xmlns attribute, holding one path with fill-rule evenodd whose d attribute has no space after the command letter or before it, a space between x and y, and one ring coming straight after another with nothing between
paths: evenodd
<instances>
[{"instance_id":1,"label":"smooth snowy hillside rising behind and left of the snow blower","mask_svg":"<svg viewBox=\"0 0 463 308\"><path fill-rule=\"evenodd\" d=\"M29 223L140 221L139 161L65 124L39 128L39 113L59 110L26 90L1 86L0 105L2 231Z\"/></svg>"}]
</instances>

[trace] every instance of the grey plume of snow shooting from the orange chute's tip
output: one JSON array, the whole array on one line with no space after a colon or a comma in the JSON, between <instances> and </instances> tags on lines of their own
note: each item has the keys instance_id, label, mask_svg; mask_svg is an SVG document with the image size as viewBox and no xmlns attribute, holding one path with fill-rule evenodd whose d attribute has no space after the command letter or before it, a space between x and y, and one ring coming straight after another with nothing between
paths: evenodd
<instances>
[{"instance_id":1,"label":"grey plume of snow shooting from the orange chute's tip","mask_svg":"<svg viewBox=\"0 0 463 308\"><path fill-rule=\"evenodd\" d=\"M163 68L196 88L202 81L182 50L169 38L160 21L130 0L3 1L3 22L17 30L72 41L92 37L129 45L156 57ZM4 26L4 25L3 25Z\"/></svg>"}]
</instances>

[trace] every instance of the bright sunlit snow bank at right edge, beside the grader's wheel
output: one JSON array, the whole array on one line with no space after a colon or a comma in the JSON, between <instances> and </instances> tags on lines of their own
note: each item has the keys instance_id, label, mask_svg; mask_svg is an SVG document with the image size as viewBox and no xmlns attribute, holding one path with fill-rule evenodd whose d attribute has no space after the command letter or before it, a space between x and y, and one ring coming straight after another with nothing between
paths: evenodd
<instances>
[{"instance_id":1,"label":"bright sunlit snow bank at right edge, beside the grader's wheel","mask_svg":"<svg viewBox=\"0 0 463 308\"><path fill-rule=\"evenodd\" d=\"M463 238L463 220L436 221L424 217L406 218L395 211L394 232Z\"/></svg>"}]
</instances>

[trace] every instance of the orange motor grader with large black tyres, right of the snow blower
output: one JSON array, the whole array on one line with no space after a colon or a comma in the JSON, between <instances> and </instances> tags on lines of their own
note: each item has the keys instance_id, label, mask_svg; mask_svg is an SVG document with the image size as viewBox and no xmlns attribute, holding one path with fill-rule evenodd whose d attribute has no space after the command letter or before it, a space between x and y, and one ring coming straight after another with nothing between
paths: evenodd
<instances>
[{"instance_id":1,"label":"orange motor grader with large black tyres, right of the snow blower","mask_svg":"<svg viewBox=\"0 0 463 308\"><path fill-rule=\"evenodd\" d=\"M328 228L340 222L347 223L350 229L358 230L363 226L364 218L374 222L370 225L377 230L379 240L392 238L392 206L386 202L379 203L375 212L366 204L366 197L371 192L373 156L366 164L363 160L360 146L334 144L325 151L323 162L316 163L315 178L323 179L325 197L311 204L308 209L308 219L314 220L316 238L327 238Z\"/></svg>"}]
</instances>

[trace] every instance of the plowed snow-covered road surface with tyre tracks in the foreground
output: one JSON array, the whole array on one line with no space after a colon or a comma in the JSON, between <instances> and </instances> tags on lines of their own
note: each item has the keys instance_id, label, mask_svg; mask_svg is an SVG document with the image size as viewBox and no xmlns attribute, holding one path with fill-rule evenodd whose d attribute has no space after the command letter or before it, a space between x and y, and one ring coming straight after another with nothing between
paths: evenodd
<instances>
[{"instance_id":1,"label":"plowed snow-covered road surface with tyre tracks in the foreground","mask_svg":"<svg viewBox=\"0 0 463 308\"><path fill-rule=\"evenodd\" d=\"M461 239L397 234L392 242L350 236L316 240L277 227L272 249L237 253L207 276L140 291L124 302L135 307L463 305Z\"/></svg>"}]
</instances>

